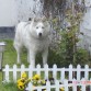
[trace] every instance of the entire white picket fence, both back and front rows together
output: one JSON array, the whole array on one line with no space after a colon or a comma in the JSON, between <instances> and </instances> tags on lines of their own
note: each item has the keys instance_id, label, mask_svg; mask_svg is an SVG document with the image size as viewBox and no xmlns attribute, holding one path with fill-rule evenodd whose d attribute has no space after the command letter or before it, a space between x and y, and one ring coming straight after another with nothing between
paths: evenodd
<instances>
[{"instance_id":1,"label":"entire white picket fence, both back and front rows together","mask_svg":"<svg viewBox=\"0 0 91 91\"><path fill-rule=\"evenodd\" d=\"M5 65L2 71L3 81L7 82L12 80L16 82L16 80L21 77L21 73L24 71L27 72L29 78L32 78L34 73L37 73L43 77L43 79L48 79L50 75L55 79L55 84L53 86L49 83L49 81L47 81L46 86L33 88L32 83L30 82L29 87L26 88L27 91L33 91L33 89L36 89L37 91L42 91L42 89L50 91L53 88L55 91L59 91L59 88L61 87L65 88L65 91L69 91L68 87L72 87L72 91L77 91L77 86L81 86L81 90L87 91L86 87L91 86L91 68L89 68L88 65L86 65L84 68L81 68L80 65L78 65L77 68L73 68L72 65L69 65L69 68L57 68L56 65L54 65L53 68L49 68L48 65L45 65L44 68L42 68L41 65L37 65L36 68L33 68L31 65L27 68L25 68L24 65L21 65L20 68L16 65L13 65L13 68L11 68L9 65ZM68 83L68 81L72 81L72 83ZM62 84L59 84L59 82Z\"/></svg>"}]
</instances>

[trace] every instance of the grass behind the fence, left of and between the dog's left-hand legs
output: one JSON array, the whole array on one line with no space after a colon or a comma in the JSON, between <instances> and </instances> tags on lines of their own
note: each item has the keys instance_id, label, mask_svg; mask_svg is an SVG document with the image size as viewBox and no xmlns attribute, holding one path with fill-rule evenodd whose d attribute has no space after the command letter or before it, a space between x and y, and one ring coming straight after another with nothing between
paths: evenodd
<instances>
[{"instance_id":1,"label":"grass behind the fence, left of and between the dog's left-hand legs","mask_svg":"<svg viewBox=\"0 0 91 91\"><path fill-rule=\"evenodd\" d=\"M7 45L5 45L5 50L3 53L3 67L7 64L9 66L12 66L12 65L16 64L16 53L15 53L15 49L13 47L13 41L7 39L4 42ZM22 64L27 65L27 62L25 61L26 60L26 49L25 48L23 48L23 53L25 53L25 54L21 55Z\"/></svg>"}]
</instances>

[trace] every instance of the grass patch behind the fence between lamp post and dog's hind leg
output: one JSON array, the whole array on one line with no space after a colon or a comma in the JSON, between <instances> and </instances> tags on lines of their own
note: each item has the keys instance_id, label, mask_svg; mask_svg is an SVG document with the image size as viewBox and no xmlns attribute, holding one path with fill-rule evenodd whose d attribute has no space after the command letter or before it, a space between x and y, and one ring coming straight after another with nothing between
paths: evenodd
<instances>
[{"instance_id":1,"label":"grass patch behind the fence between lamp post and dog's hind leg","mask_svg":"<svg viewBox=\"0 0 91 91\"><path fill-rule=\"evenodd\" d=\"M3 53L3 67L4 65L10 65L12 66L13 64L16 62L16 53L13 47L13 41L4 41L5 42L5 47L4 47L4 53Z\"/></svg>"}]
</instances>

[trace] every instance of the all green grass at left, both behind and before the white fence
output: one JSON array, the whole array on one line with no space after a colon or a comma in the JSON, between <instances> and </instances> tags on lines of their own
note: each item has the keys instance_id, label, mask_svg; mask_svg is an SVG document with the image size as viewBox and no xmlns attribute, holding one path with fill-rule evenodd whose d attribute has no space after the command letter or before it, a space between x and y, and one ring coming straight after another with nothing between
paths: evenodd
<instances>
[{"instance_id":1,"label":"all green grass at left, both behind and before the white fence","mask_svg":"<svg viewBox=\"0 0 91 91\"><path fill-rule=\"evenodd\" d=\"M0 42L2 42L2 41L0 41ZM13 41L5 39L3 42L5 42L7 45L4 47L2 67L4 67L7 64L10 67L12 67L14 64L16 64L16 53L13 47ZM23 49L23 52L26 53L25 48ZM21 58L22 58L22 64L27 66L29 64L26 62L26 54L22 54ZM20 65L18 65L18 66L20 66ZM2 79L3 79L3 75L0 71L0 91L18 91L15 83L11 82L11 83L3 84Z\"/></svg>"}]
</instances>

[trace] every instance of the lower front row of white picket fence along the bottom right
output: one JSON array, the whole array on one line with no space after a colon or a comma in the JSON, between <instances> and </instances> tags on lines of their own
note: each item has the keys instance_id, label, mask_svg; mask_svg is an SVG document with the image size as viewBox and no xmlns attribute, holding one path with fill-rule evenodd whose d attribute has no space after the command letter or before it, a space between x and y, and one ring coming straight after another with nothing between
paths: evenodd
<instances>
[{"instance_id":1,"label":"lower front row of white picket fence along the bottom right","mask_svg":"<svg viewBox=\"0 0 91 91\"><path fill-rule=\"evenodd\" d=\"M64 90L60 90L60 88L64 88ZM80 81L77 81L76 79L73 79L72 83L68 83L68 80L65 79L62 84L59 84L59 81L56 80L55 84L53 86L49 81L47 81L46 86L42 87L33 87L32 83L30 83L26 88L26 91L42 91L43 89L45 89L46 91L91 91L91 80L86 81L84 79L81 79Z\"/></svg>"}]
</instances>

